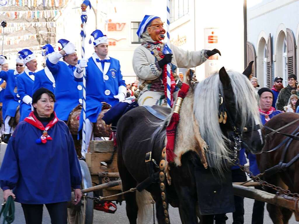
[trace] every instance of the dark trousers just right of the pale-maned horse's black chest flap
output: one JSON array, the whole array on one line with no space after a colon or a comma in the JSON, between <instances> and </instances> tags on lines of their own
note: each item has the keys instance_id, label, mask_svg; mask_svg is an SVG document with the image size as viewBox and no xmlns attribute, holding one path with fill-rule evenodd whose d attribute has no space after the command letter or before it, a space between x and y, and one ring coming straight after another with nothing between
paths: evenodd
<instances>
[{"instance_id":1,"label":"dark trousers just right of the pale-maned horse's black chest flap","mask_svg":"<svg viewBox=\"0 0 299 224\"><path fill-rule=\"evenodd\" d=\"M232 182L245 182L246 174L241 169L231 170ZM244 197L234 196L235 209L233 213L233 224L244 223ZM214 217L215 224L225 224L228 217L225 214L216 214Z\"/></svg>"}]
</instances>

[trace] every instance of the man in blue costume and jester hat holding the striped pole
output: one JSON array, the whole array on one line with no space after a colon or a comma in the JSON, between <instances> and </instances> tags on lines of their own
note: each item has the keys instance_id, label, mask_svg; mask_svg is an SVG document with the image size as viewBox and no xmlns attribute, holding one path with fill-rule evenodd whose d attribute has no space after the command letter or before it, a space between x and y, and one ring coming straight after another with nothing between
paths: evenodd
<instances>
[{"instance_id":1,"label":"man in blue costume and jester hat holding the striped pole","mask_svg":"<svg viewBox=\"0 0 299 224\"><path fill-rule=\"evenodd\" d=\"M84 157L87 152L89 140L92 139L93 124L101 112L101 102L114 106L126 98L126 83L120 71L119 60L108 56L108 39L102 31L91 33L94 37L94 53L88 59L82 59L74 71L75 80L82 82L83 68L86 67L86 148L82 148ZM83 116L80 116L82 128Z\"/></svg>"}]
</instances>

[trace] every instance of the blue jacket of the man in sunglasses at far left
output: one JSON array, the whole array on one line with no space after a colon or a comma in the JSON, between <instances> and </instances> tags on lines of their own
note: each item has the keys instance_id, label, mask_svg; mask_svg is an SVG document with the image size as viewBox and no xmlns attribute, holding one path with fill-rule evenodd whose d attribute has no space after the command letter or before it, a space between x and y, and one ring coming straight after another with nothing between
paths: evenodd
<instances>
[{"instance_id":1,"label":"blue jacket of the man in sunglasses at far left","mask_svg":"<svg viewBox=\"0 0 299 224\"><path fill-rule=\"evenodd\" d=\"M2 114L5 119L6 116L14 117L16 109L19 105L20 96L17 94L17 77L19 73L16 70L1 71L0 78L6 81L6 89L3 97ZM2 91L1 91L2 92Z\"/></svg>"}]
</instances>

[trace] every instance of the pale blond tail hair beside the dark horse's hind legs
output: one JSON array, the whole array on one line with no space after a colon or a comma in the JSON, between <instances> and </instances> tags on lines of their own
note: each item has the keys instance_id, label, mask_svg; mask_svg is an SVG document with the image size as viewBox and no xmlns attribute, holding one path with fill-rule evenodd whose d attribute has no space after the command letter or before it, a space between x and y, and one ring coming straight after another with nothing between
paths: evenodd
<instances>
[{"instance_id":1,"label":"pale blond tail hair beside the dark horse's hind legs","mask_svg":"<svg viewBox=\"0 0 299 224\"><path fill-rule=\"evenodd\" d=\"M143 190L141 192L136 191L136 202L138 205L137 223L143 224L144 220L147 220L149 215L152 213L151 206L154 202L154 199L152 198L152 195L146 190Z\"/></svg>"}]
</instances>

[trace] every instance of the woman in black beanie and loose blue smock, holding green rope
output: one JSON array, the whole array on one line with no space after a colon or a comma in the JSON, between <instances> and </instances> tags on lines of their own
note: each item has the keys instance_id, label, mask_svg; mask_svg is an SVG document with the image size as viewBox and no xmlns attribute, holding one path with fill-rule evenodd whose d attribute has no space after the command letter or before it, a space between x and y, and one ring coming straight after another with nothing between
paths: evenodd
<instances>
[{"instance_id":1,"label":"woman in black beanie and loose blue smock, holding green rope","mask_svg":"<svg viewBox=\"0 0 299 224\"><path fill-rule=\"evenodd\" d=\"M54 109L55 96L45 88L32 97L34 110L9 139L0 169L4 200L22 204L26 224L41 224L43 204L51 223L67 223L67 202L74 189L81 199L81 171L68 127Z\"/></svg>"}]
</instances>

